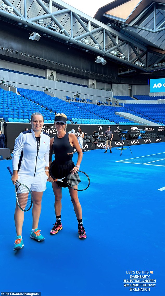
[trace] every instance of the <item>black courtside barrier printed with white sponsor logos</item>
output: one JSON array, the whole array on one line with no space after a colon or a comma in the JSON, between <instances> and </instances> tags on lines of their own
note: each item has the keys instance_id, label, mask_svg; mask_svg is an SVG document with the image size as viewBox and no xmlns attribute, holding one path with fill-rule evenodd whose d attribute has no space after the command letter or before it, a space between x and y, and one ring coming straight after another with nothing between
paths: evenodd
<instances>
[{"instance_id":1,"label":"black courtside barrier printed with white sponsor logos","mask_svg":"<svg viewBox=\"0 0 165 296\"><path fill-rule=\"evenodd\" d=\"M4 134L6 137L6 147L9 147L12 152L14 149L14 142L16 137L25 130L25 128L31 129L30 123L6 123L4 126ZM107 130L108 125L82 125L82 124L67 124L67 132L72 129L77 133L78 128L81 127L85 136L90 136L91 139L93 137L93 133L99 133L98 143L87 141L83 143L84 149L100 149L105 146L104 141L104 132ZM149 144L149 143L159 143L165 141L165 126L142 126L142 125L132 125L132 126L123 126L123 125L112 125L110 130L113 133L113 141L112 147L119 147L122 145L122 136L121 130L127 130L126 137L128 139L129 145L137 145L137 144ZM54 137L57 134L57 131L53 124L46 123L43 126L43 131L49 133L51 137ZM138 132L137 132L138 131ZM144 131L145 133L140 133L140 131ZM139 139L139 134L142 139ZM145 136L144 136L145 135ZM126 146L126 141L124 141L124 145ZM87 147L88 146L88 147Z\"/></svg>"}]
</instances>

